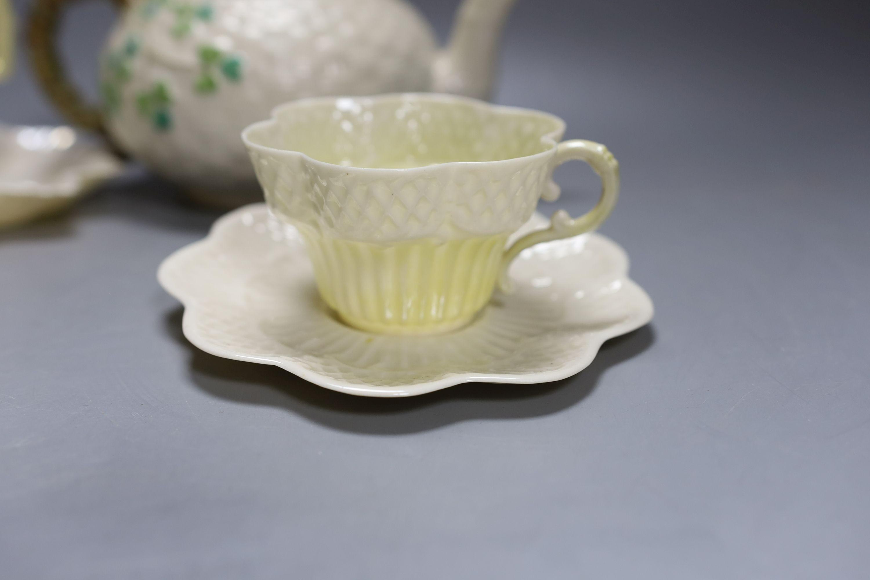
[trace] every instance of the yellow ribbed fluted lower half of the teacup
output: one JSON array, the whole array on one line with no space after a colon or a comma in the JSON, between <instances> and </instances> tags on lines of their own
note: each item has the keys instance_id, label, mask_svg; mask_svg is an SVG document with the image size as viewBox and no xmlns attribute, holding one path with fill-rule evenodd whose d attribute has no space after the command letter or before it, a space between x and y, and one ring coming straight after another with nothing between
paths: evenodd
<instances>
[{"instance_id":1,"label":"yellow ribbed fluted lower half of the teacup","mask_svg":"<svg viewBox=\"0 0 870 580\"><path fill-rule=\"evenodd\" d=\"M492 296L505 235L376 244L305 232L318 290L345 322L375 332L438 332Z\"/></svg>"}]
</instances>

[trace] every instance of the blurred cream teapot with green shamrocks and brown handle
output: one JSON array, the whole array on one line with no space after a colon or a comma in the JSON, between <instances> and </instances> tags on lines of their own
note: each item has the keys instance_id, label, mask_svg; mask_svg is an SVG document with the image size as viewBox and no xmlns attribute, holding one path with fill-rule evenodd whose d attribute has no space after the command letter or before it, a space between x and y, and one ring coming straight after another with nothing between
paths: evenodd
<instances>
[{"instance_id":1,"label":"blurred cream teapot with green shamrocks and brown handle","mask_svg":"<svg viewBox=\"0 0 870 580\"><path fill-rule=\"evenodd\" d=\"M53 37L76 0L37 0L37 77L72 123L180 183L198 200L260 195L239 134L278 103L400 91L485 98L515 0L463 0L445 48L404 0L113 0L123 8L100 63L102 106L64 76Z\"/></svg>"}]
</instances>

